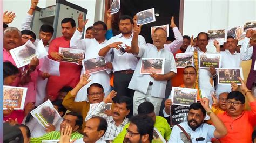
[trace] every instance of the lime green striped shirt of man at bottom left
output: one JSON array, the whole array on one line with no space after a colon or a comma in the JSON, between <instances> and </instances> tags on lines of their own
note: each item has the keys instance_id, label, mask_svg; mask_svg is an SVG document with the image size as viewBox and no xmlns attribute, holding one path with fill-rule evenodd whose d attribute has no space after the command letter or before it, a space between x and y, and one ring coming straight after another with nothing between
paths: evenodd
<instances>
[{"instance_id":1,"label":"lime green striped shirt of man at bottom left","mask_svg":"<svg viewBox=\"0 0 256 143\"><path fill-rule=\"evenodd\" d=\"M78 132L73 132L71 134L71 138L70 139L72 140L72 139L80 139L80 138L83 138L82 134L80 134ZM60 131L52 131L52 132L44 134L41 137L31 138L30 142L31 143L41 143L42 140L59 140L59 139L60 139Z\"/></svg>"}]
</instances>

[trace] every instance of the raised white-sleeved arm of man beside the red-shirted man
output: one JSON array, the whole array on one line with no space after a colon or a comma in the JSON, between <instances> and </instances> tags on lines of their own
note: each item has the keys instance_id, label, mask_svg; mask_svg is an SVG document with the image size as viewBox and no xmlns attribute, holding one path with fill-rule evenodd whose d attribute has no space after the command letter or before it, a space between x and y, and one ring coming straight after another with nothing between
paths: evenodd
<instances>
[{"instance_id":1,"label":"raised white-sleeved arm of man beside the red-shirted man","mask_svg":"<svg viewBox=\"0 0 256 143\"><path fill-rule=\"evenodd\" d=\"M78 27L75 33L73 34L72 38L70 39L70 48L76 48L76 49L85 49L85 44L83 43L83 40L81 40L82 37L82 31L86 23L88 22L88 19L84 21L83 14L80 13L77 20L78 20Z\"/></svg>"}]
</instances>

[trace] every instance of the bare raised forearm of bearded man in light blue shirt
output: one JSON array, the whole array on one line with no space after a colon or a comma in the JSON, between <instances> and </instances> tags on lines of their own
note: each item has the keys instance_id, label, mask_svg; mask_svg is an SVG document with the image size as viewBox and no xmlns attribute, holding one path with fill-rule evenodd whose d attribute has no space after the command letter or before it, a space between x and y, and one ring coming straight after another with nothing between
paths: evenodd
<instances>
[{"instance_id":1,"label":"bare raised forearm of bearded man in light blue shirt","mask_svg":"<svg viewBox=\"0 0 256 143\"><path fill-rule=\"evenodd\" d=\"M214 137L217 139L224 137L227 134L227 128L224 123L215 115L215 113L212 112L211 108L209 107L209 99L205 97L201 98L200 103L210 116L212 123L216 128L214 131Z\"/></svg>"}]
</instances>

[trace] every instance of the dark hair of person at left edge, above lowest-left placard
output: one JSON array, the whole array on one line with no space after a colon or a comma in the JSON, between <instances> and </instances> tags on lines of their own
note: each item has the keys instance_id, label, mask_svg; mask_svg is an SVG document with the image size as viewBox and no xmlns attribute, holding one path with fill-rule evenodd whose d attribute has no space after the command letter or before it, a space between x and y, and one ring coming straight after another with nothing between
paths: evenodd
<instances>
[{"instance_id":1,"label":"dark hair of person at left edge, above lowest-left placard","mask_svg":"<svg viewBox=\"0 0 256 143\"><path fill-rule=\"evenodd\" d=\"M16 66L14 66L11 62L4 62L3 70L4 78L11 75L19 74L19 69Z\"/></svg>"}]
</instances>

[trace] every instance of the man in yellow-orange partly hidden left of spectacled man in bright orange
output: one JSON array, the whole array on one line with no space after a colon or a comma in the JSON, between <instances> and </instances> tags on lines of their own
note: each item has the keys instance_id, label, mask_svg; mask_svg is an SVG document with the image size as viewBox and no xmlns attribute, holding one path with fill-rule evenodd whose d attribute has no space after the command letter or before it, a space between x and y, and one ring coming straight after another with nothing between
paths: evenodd
<instances>
[{"instance_id":1,"label":"man in yellow-orange partly hidden left of spectacled man in bright orange","mask_svg":"<svg viewBox=\"0 0 256 143\"><path fill-rule=\"evenodd\" d=\"M218 115L219 113L224 113L227 109L227 92L221 93L219 95L219 100L215 95L212 94L212 111Z\"/></svg>"}]
</instances>

